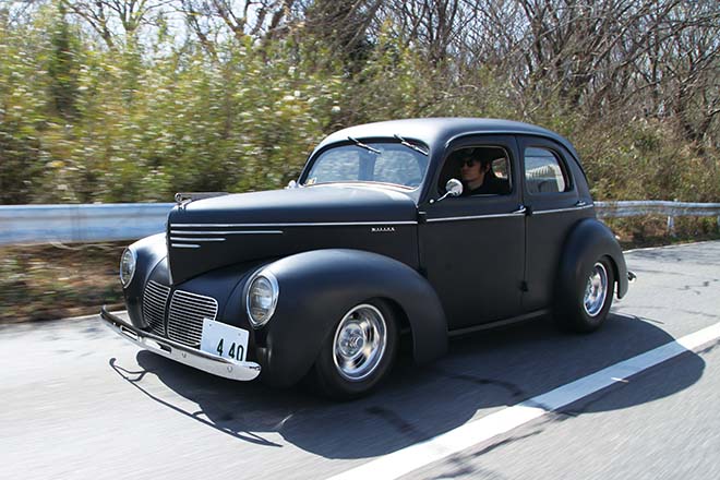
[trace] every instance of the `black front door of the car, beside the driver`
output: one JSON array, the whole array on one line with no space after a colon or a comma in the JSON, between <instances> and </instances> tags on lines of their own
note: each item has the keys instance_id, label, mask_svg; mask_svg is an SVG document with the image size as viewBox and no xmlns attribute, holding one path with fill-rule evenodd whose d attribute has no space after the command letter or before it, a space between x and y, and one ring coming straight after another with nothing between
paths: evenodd
<instances>
[{"instance_id":1,"label":"black front door of the car, beside the driver","mask_svg":"<svg viewBox=\"0 0 720 480\"><path fill-rule=\"evenodd\" d=\"M509 193L445 197L454 158L465 148L504 152ZM519 158L513 136L477 135L447 148L431 194L420 205L422 267L440 296L449 329L471 327L521 313L525 268L525 213L520 202Z\"/></svg>"}]
</instances>

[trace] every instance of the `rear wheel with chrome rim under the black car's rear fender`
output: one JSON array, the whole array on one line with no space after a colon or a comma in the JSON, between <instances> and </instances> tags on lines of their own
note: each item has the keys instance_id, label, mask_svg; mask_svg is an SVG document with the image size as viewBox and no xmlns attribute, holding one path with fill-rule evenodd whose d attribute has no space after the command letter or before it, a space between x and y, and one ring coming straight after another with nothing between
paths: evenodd
<instances>
[{"instance_id":1,"label":"rear wheel with chrome rim under the black car's rear fender","mask_svg":"<svg viewBox=\"0 0 720 480\"><path fill-rule=\"evenodd\" d=\"M603 256L571 287L572 291L559 292L555 313L560 326L578 333L598 329L610 312L614 287L612 264Z\"/></svg>"}]
</instances>

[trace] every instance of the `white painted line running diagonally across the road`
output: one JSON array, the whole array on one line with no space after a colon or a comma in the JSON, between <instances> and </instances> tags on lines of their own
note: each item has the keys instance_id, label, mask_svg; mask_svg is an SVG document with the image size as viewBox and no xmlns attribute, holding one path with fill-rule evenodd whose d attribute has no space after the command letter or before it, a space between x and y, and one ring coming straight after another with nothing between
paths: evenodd
<instances>
[{"instance_id":1,"label":"white painted line running diagonally across the road","mask_svg":"<svg viewBox=\"0 0 720 480\"><path fill-rule=\"evenodd\" d=\"M565 407L614 383L720 337L720 323L689 334L679 340L662 345L645 353L624 360L568 383L521 404L471 421L449 432L437 435L392 454L375 458L357 468L332 477L329 480L381 480L396 479L418 468L441 460L481 442L508 432L543 415Z\"/></svg>"}]
</instances>

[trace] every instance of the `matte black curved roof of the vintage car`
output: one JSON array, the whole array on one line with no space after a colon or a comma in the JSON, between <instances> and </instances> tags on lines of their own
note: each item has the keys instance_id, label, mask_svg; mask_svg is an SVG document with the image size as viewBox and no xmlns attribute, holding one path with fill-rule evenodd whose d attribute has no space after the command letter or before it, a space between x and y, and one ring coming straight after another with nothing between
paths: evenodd
<instances>
[{"instance_id":1,"label":"matte black curved roof of the vintage car","mask_svg":"<svg viewBox=\"0 0 720 480\"><path fill-rule=\"evenodd\" d=\"M347 142L348 136L355 139L379 139L400 135L404 139L418 140L431 149L445 147L448 141L467 134L526 134L554 140L567 148L577 159L578 155L573 144L565 137L542 127L512 120L490 118L418 118L406 120L389 120L365 123L339 130L328 135L317 145L315 151L335 142Z\"/></svg>"}]
</instances>

